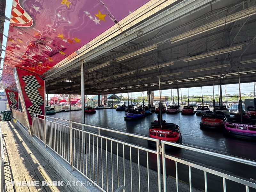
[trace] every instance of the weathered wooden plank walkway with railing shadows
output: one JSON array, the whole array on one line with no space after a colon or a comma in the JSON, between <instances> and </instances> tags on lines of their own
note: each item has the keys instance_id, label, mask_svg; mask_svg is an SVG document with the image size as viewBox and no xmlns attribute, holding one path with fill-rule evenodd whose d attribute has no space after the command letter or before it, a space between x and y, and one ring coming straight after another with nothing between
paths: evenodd
<instances>
[{"instance_id":1,"label":"weathered wooden plank walkway with railing shadows","mask_svg":"<svg viewBox=\"0 0 256 192\"><path fill-rule=\"evenodd\" d=\"M60 175L32 146L13 122L0 122L4 145L4 179L6 192L66 192L69 187L42 186L42 181L62 181ZM12 181L39 181L39 186L12 186Z\"/></svg>"}]
</instances>

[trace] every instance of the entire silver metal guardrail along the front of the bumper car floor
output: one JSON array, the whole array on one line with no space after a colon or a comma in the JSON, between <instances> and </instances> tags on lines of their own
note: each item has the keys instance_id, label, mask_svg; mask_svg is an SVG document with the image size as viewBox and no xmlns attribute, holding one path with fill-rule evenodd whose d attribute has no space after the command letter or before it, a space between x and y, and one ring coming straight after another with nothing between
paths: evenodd
<instances>
[{"instance_id":1,"label":"entire silver metal guardrail along the front of the bumper car floor","mask_svg":"<svg viewBox=\"0 0 256 192\"><path fill-rule=\"evenodd\" d=\"M32 116L32 124L34 129L34 136L45 143L45 147L51 148L55 153L62 157L68 164L71 165L72 171L75 169L80 172L85 178L94 183L95 186L100 188L102 191L114 191L114 188L118 188L120 185L124 185L126 189L129 188L129 191L132 191L132 184L140 184L143 180L145 183L145 177L148 182L147 190L150 190L149 181L149 155L150 157L156 157L157 162L157 188L158 191L162 191L161 188L161 167L160 167L160 155L162 155L162 164L163 164L163 191L166 192L167 180L166 180L166 159L168 161L175 162L176 170L176 191L179 191L178 188L178 163L182 166L188 166L188 175L189 175L189 191L192 192L192 180L191 180L191 167L197 170L204 172L204 191L207 192L207 175L209 173L219 176L223 180L223 191L226 192L226 180L232 180L236 183L243 184L245 191L249 192L249 188L256 188L256 183L252 182L249 179L245 179L236 175L231 174L207 166L204 164L199 164L187 159L183 159L177 156L167 154L165 149L166 145L171 145L177 148L183 148L190 150L196 153L201 153L204 155L214 156L221 159L230 160L233 162L239 162L242 164L247 164L250 166L256 167L256 162L235 157L229 156L221 153L216 153L196 147L191 147L179 143L173 143L168 141L161 141L159 146L159 140L153 139L150 137L131 134L127 132L121 132L106 128L100 128L92 125L81 124L76 122L71 122L63 119L36 115ZM57 122L56 122L57 121ZM74 127L75 125L80 125L82 129L86 127L85 130ZM156 142L156 150L151 150L145 147L134 145L126 141L121 141L108 137L101 134L107 133L111 134L121 134L126 136L135 137L142 140L152 140ZM110 134L110 135L111 135ZM125 154L125 149L129 149L129 153ZM121 150L120 150L121 149ZM147 175L140 175L140 152L144 151L147 158ZM136 156L135 156L136 154ZM132 162L132 156L135 156L138 161L136 169L134 169L134 163ZM128 159L128 160L127 160ZM129 161L130 160L130 161ZM170 162L168 162L170 163ZM145 165L144 165L145 166ZM127 172L127 168L129 171ZM115 173L117 175L115 175ZM208 174L207 174L208 173ZM129 177L129 181L127 178ZM144 177L144 178L143 178ZM136 179L136 180L135 180ZM128 182L127 182L128 181ZM152 190L152 189L151 189ZM145 188L144 188L145 191Z\"/></svg>"}]
</instances>

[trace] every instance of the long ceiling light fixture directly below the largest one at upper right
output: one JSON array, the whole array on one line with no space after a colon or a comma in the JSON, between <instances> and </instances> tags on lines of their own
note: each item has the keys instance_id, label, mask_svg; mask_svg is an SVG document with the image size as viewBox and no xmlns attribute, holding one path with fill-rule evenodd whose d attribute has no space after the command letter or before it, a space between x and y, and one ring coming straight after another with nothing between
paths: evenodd
<instances>
[{"instance_id":1,"label":"long ceiling light fixture directly below the largest one at upper right","mask_svg":"<svg viewBox=\"0 0 256 192\"><path fill-rule=\"evenodd\" d=\"M222 50L219 50L219 51L212 51L212 52L209 52L209 53L206 53L206 54L197 55L197 56L194 56L194 57L189 57L187 59L183 59L183 62L203 59L203 58L206 58L206 57L212 57L212 56L216 56L216 55L223 54L223 53L238 51L238 50L241 50L241 49L242 49L242 45L238 45L236 47L229 47L229 48L222 49Z\"/></svg>"}]
</instances>

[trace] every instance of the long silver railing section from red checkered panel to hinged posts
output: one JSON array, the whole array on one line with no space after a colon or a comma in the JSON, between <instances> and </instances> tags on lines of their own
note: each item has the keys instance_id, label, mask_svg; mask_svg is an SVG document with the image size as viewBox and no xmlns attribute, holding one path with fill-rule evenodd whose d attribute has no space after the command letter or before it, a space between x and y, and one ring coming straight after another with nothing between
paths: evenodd
<instances>
[{"instance_id":1,"label":"long silver railing section from red checkered panel to hinged posts","mask_svg":"<svg viewBox=\"0 0 256 192\"><path fill-rule=\"evenodd\" d=\"M41 117L41 118L40 118ZM156 158L157 180L155 186L161 191L160 153L156 150L141 147L122 140L102 135L101 132L125 135L142 140L151 140L159 146L159 140L121 132L87 124L81 124L62 120L62 124L56 123L57 118L36 115L32 116L33 134L61 156L85 178L94 183L102 191L115 191L120 185L130 188L133 191L133 182L140 184L143 181L148 183L147 190L150 190L149 178L149 156ZM86 130L74 126L86 127ZM129 150L129 154L125 151ZM144 153L147 158L147 175L140 175L140 157ZM122 157L120 156L122 155ZM128 159L128 160L127 160ZM136 165L132 161L138 162ZM115 162L115 163L114 163ZM127 172L127 167L130 171ZM128 179L129 178L129 179ZM145 191L143 189L142 191Z\"/></svg>"}]
</instances>

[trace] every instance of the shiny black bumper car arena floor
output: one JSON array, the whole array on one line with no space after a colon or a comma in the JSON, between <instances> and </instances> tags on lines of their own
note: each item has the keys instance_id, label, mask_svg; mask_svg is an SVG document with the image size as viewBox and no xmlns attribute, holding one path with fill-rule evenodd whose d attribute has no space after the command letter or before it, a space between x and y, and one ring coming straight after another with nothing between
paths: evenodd
<instances>
[{"instance_id":1,"label":"shiny black bumper car arena floor","mask_svg":"<svg viewBox=\"0 0 256 192\"><path fill-rule=\"evenodd\" d=\"M145 136L149 136L148 128L150 122L156 120L157 114L153 113L150 116L147 116L143 119L135 121L124 121L125 112L116 111L113 109L102 109L97 110L96 114L85 114L85 123L89 125L115 129L119 131L125 131L130 133L137 133ZM74 122L81 122L81 111L72 111L72 112L63 112L52 115L52 117L71 120ZM199 147L202 149L207 149L227 155L238 156L250 160L256 161L256 142L250 140L241 140L237 138L227 137L223 135L221 130L208 130L201 129L199 123L201 121L200 116L196 114L188 116L179 114L163 114L163 119L166 122L175 123L180 126L180 131L182 134L182 143ZM57 121L58 122L58 121ZM73 125L73 127L80 128L79 125ZM86 130L97 132L93 128L86 127ZM124 136L120 134L110 133L101 131L102 135L106 135L118 140L124 140L136 145L140 145L146 148L151 148L148 145L146 140L140 140L137 138L132 138L129 136ZM110 145L108 145L110 146ZM109 149L108 149L109 150ZM130 158L130 149L125 148L125 158ZM119 148L118 153L120 156L123 156L123 149ZM116 153L115 148L113 152ZM241 164L237 162L232 162L225 159L220 159L217 157L212 157L197 152L176 149L176 150L167 150L168 154L177 156L198 164L204 164L209 167L216 169L224 170L227 173L231 173L245 179L250 180L250 178L256 179L256 167L250 165ZM143 155L145 154L145 155ZM144 157L144 158L143 158ZM132 151L132 161L136 162L137 160L137 149ZM140 164L147 166L146 152L141 151L140 154ZM161 162L162 164L162 162ZM149 167L150 169L156 170L156 155L149 154ZM175 162L166 159L166 171L167 174L175 176ZM192 175L192 186L198 189L204 190L204 172L191 168ZM178 163L178 178L183 182L189 183L188 175L188 166ZM222 178L207 173L207 186L208 191L223 191ZM227 191L229 192L245 192L245 186L238 184L234 181L226 180ZM256 191L253 188L250 188L251 191Z\"/></svg>"}]
</instances>

